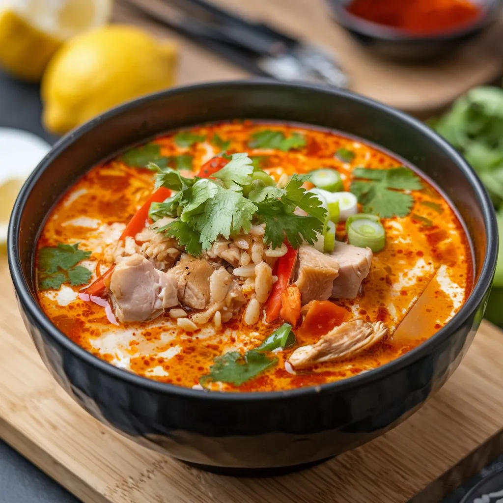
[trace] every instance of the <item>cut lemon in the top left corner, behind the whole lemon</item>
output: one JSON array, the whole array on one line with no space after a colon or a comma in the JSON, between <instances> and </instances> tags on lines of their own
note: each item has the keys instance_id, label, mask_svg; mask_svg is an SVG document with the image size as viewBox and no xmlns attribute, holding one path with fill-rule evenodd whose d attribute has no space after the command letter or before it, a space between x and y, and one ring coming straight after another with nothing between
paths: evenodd
<instances>
[{"instance_id":1,"label":"cut lemon in the top left corner, behind the whole lemon","mask_svg":"<svg viewBox=\"0 0 503 503\"><path fill-rule=\"evenodd\" d=\"M41 79L69 37L105 24L113 0L0 0L0 65L24 80Z\"/></svg>"}]
</instances>

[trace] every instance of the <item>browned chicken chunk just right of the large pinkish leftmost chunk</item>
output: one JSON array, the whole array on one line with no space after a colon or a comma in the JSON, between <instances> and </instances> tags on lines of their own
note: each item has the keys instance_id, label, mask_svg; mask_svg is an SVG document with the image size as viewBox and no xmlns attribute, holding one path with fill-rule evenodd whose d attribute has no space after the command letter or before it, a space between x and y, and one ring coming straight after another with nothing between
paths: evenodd
<instances>
[{"instance_id":1,"label":"browned chicken chunk just right of the large pinkish leftmost chunk","mask_svg":"<svg viewBox=\"0 0 503 503\"><path fill-rule=\"evenodd\" d=\"M214 269L202 259L183 257L177 265L182 271L178 280L178 298L193 309L205 309L210 302L210 277Z\"/></svg>"}]
</instances>

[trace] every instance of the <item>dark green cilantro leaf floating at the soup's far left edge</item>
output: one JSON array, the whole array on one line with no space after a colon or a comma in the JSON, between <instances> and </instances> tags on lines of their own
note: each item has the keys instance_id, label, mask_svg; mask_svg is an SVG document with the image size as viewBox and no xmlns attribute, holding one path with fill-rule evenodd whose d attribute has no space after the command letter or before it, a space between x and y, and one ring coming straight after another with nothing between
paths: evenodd
<instances>
[{"instance_id":1,"label":"dark green cilantro leaf floating at the soup's far left edge","mask_svg":"<svg viewBox=\"0 0 503 503\"><path fill-rule=\"evenodd\" d=\"M91 271L77 264L90 256L91 251L78 249L78 243L41 248L37 264L40 290L59 290L63 283L71 286L89 283Z\"/></svg>"}]
</instances>

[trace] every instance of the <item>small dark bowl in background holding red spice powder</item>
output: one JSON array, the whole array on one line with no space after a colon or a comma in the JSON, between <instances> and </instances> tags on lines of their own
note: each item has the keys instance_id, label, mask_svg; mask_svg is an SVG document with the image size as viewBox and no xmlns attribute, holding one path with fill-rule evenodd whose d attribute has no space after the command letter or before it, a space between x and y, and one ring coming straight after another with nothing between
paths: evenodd
<instances>
[{"instance_id":1,"label":"small dark bowl in background holding red spice powder","mask_svg":"<svg viewBox=\"0 0 503 503\"><path fill-rule=\"evenodd\" d=\"M414 35L354 16L347 11L351 2L327 0L336 20L353 38L380 57L400 61L431 62L448 56L494 24L501 9L501 0L474 0L481 7L481 15L473 24L445 33Z\"/></svg>"}]
</instances>

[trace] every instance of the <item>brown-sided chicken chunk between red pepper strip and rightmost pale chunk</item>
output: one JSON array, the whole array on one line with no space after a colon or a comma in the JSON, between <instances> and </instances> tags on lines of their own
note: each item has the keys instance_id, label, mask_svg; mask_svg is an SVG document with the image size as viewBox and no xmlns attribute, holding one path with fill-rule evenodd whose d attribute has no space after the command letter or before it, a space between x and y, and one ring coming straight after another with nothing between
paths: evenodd
<instances>
[{"instance_id":1,"label":"brown-sided chicken chunk between red pepper strip and rightmost pale chunk","mask_svg":"<svg viewBox=\"0 0 503 503\"><path fill-rule=\"evenodd\" d=\"M327 300L338 274L339 262L336 258L303 244L298 251L298 273L294 283L300 290L302 305L311 300Z\"/></svg>"}]
</instances>

